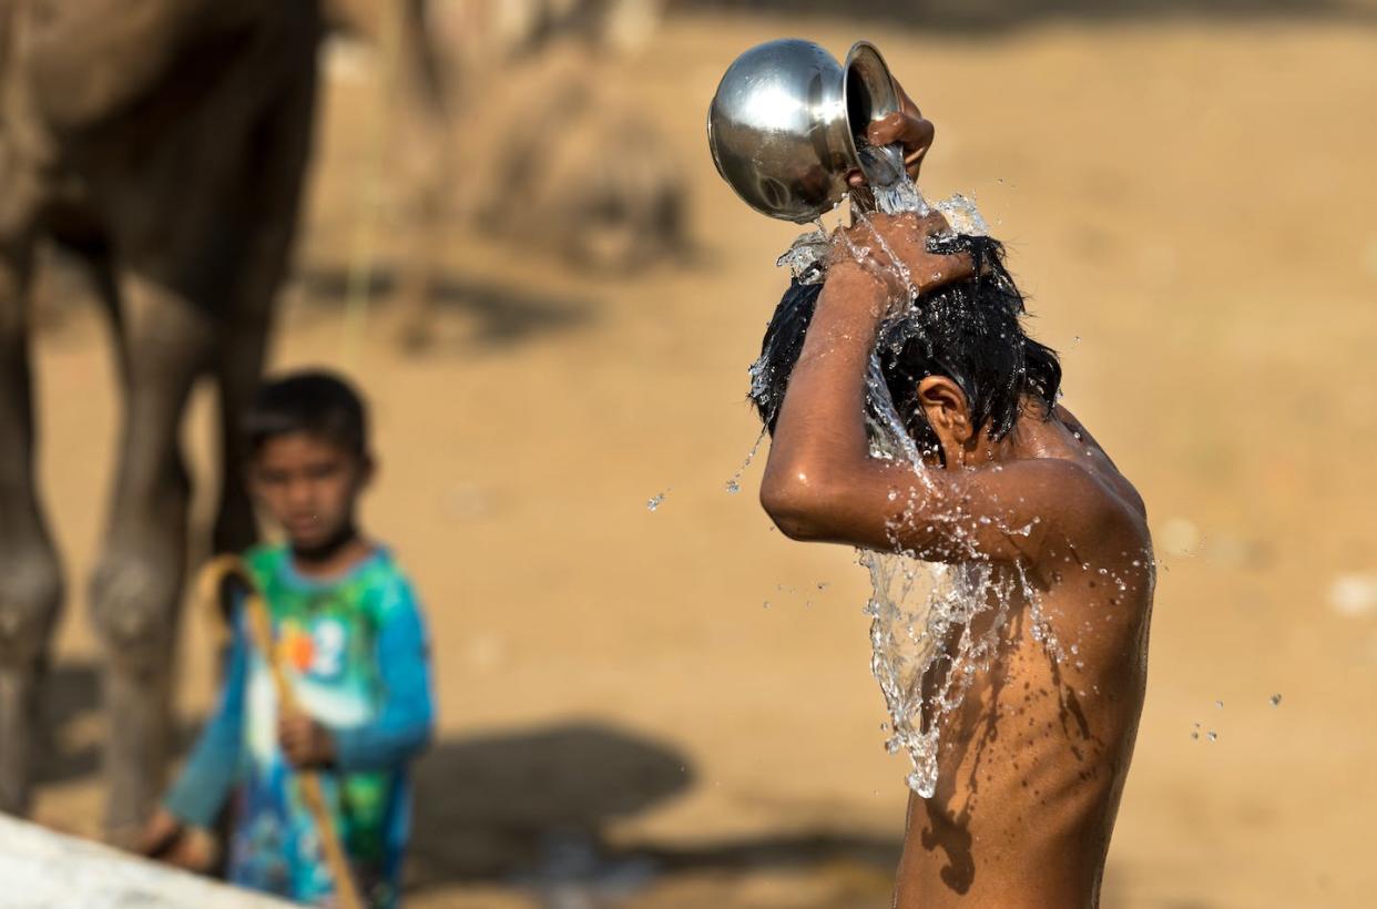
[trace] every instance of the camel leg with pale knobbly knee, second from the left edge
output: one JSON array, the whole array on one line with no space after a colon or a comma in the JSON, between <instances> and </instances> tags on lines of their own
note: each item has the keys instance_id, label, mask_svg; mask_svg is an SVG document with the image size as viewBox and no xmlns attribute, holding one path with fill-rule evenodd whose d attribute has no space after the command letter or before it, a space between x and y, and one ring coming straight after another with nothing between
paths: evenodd
<instances>
[{"instance_id":1,"label":"camel leg with pale knobbly knee, second from the left edge","mask_svg":"<svg viewBox=\"0 0 1377 909\"><path fill-rule=\"evenodd\" d=\"M187 299L140 274L117 274L125 412L90 596L106 657L106 824L116 837L142 822L162 784L190 493L178 435L215 342L215 321Z\"/></svg>"}]
</instances>

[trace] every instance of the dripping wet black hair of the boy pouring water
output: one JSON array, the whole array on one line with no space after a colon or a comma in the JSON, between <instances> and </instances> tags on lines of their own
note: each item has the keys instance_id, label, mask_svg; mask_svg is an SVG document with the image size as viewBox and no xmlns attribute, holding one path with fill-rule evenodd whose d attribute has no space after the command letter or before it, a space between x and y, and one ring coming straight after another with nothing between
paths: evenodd
<instances>
[{"instance_id":1,"label":"dripping wet black hair of the boy pouring water","mask_svg":"<svg viewBox=\"0 0 1377 909\"><path fill-rule=\"evenodd\" d=\"M1051 415L1062 386L1056 351L1029 337L1023 295L1004 264L1004 247L990 237L949 234L928 241L932 252L967 252L975 277L918 296L902 315L880 326L877 348L885 386L918 449L942 457L936 432L918 405L918 383L946 376L965 394L971 420L991 439L1004 438L1024 397ZM774 432L789 376L812 322L821 284L792 284L775 309L750 369L750 401Z\"/></svg>"}]
</instances>

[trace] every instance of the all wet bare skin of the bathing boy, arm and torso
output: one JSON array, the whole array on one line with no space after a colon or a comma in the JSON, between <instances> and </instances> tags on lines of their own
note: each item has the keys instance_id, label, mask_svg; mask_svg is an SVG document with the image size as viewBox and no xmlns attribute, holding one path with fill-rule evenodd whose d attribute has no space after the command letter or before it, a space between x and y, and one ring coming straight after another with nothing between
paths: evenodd
<instances>
[{"instance_id":1,"label":"all wet bare skin of the bathing boy, arm and torso","mask_svg":"<svg viewBox=\"0 0 1377 909\"><path fill-rule=\"evenodd\" d=\"M1064 408L1048 415L1027 402L1015 428L991 441L945 376L918 384L945 454L945 464L927 464L929 482L870 456L863 376L902 292L874 234L925 292L971 275L963 256L927 252L927 237L945 229L940 215L872 215L850 229L870 258L843 253L829 271L781 406L761 504L797 540L982 561L1029 578L1059 653L1034 636L1030 603L1012 603L1000 656L942 730L936 793L910 796L895 905L1095 906L1146 683L1146 514ZM1029 525L1026 536L1011 533Z\"/></svg>"}]
</instances>

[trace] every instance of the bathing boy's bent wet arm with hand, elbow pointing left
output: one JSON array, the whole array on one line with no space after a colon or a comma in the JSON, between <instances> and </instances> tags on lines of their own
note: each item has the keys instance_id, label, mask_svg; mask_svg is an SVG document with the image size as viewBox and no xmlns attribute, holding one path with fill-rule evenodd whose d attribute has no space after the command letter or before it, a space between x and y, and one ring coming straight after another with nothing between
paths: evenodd
<instances>
[{"instance_id":1,"label":"bathing boy's bent wet arm with hand, elbow pointing left","mask_svg":"<svg viewBox=\"0 0 1377 909\"><path fill-rule=\"evenodd\" d=\"M918 292L971 275L967 258L927 251L927 237L946 227L940 215L872 219ZM854 237L859 244L859 233ZM1070 461L918 477L907 464L870 456L865 373L884 311L901 292L907 288L850 258L833 264L789 379L760 486L761 504L779 529L795 539L902 548L931 561L1019 559L1048 533L1078 537L1106 518L1097 505L1103 490L1077 493L1097 481Z\"/></svg>"}]
</instances>

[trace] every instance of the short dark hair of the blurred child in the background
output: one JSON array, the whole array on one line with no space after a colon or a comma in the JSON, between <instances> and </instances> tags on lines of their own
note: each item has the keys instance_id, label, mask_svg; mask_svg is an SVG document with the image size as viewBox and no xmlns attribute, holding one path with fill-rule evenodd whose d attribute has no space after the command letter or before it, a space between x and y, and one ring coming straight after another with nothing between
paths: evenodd
<instances>
[{"instance_id":1,"label":"short dark hair of the blurred child in the background","mask_svg":"<svg viewBox=\"0 0 1377 909\"><path fill-rule=\"evenodd\" d=\"M348 450L368 453L364 399L341 376L306 369L264 383L244 415L244 435L255 454L280 435L307 432Z\"/></svg>"}]
</instances>

